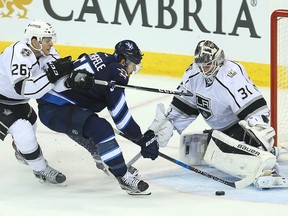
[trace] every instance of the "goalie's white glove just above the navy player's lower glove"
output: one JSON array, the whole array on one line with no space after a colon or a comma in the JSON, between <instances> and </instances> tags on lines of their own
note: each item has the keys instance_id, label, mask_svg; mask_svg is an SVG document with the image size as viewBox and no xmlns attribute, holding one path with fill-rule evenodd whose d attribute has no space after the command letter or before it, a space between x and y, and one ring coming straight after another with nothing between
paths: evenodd
<instances>
[{"instance_id":1,"label":"goalie's white glove just above the navy player's lower glove","mask_svg":"<svg viewBox=\"0 0 288 216\"><path fill-rule=\"evenodd\" d=\"M174 127L166 118L165 107L162 103L157 104L155 118L149 127L157 135L160 147L165 147L173 135Z\"/></svg>"}]
</instances>

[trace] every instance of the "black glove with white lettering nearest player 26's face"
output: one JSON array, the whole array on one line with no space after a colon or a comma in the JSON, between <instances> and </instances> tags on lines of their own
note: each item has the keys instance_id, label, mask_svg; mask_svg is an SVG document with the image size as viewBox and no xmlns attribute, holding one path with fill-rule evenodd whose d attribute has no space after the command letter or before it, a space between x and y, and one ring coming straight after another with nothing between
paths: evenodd
<instances>
[{"instance_id":1,"label":"black glove with white lettering nearest player 26's face","mask_svg":"<svg viewBox=\"0 0 288 216\"><path fill-rule=\"evenodd\" d=\"M61 77L70 74L73 69L73 63L71 61L71 56L65 58L57 59L47 63L47 69L45 70L48 80L51 83L55 83Z\"/></svg>"}]
</instances>

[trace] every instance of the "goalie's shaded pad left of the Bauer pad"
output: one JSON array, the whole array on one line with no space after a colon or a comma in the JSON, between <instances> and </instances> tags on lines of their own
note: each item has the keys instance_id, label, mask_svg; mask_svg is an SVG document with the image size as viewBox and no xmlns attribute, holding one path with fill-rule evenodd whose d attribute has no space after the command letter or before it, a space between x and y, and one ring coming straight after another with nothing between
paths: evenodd
<instances>
[{"instance_id":1,"label":"goalie's shaded pad left of the Bauer pad","mask_svg":"<svg viewBox=\"0 0 288 216\"><path fill-rule=\"evenodd\" d=\"M195 132L180 136L179 159L189 165L205 165L208 133Z\"/></svg>"}]
</instances>

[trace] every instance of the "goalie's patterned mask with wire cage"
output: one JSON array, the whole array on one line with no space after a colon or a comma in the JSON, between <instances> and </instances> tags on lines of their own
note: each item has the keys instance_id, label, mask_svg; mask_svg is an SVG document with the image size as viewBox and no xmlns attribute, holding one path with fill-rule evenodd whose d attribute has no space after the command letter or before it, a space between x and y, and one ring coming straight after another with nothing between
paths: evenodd
<instances>
[{"instance_id":1,"label":"goalie's patterned mask with wire cage","mask_svg":"<svg viewBox=\"0 0 288 216\"><path fill-rule=\"evenodd\" d=\"M204 78L208 82L213 82L217 71L224 62L224 51L219 49L212 41L202 40L198 43L194 56L194 62Z\"/></svg>"}]
</instances>

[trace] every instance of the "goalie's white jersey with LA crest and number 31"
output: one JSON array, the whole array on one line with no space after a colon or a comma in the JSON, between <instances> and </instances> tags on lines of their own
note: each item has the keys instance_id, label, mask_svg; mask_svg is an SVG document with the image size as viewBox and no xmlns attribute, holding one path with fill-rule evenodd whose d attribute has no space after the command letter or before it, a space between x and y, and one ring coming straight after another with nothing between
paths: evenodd
<instances>
[{"instance_id":1,"label":"goalie's white jersey with LA crest and number 31","mask_svg":"<svg viewBox=\"0 0 288 216\"><path fill-rule=\"evenodd\" d=\"M196 64L186 70L179 91L190 91L192 97L175 96L167 117L181 133L199 113L215 130L224 131L253 115L269 119L269 109L260 91L239 63L225 60L211 85L206 84Z\"/></svg>"}]
</instances>

